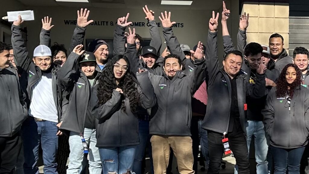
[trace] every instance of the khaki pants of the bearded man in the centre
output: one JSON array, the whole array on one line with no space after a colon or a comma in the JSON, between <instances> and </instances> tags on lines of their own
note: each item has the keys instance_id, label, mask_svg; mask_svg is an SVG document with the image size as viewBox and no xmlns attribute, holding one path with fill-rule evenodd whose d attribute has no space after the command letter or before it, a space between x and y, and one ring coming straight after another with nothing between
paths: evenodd
<instances>
[{"instance_id":1,"label":"khaki pants of the bearded man in the centre","mask_svg":"<svg viewBox=\"0 0 309 174\"><path fill-rule=\"evenodd\" d=\"M153 135L150 142L155 174L166 174L170 157L170 147L176 156L179 173L194 173L191 137Z\"/></svg>"}]
</instances>

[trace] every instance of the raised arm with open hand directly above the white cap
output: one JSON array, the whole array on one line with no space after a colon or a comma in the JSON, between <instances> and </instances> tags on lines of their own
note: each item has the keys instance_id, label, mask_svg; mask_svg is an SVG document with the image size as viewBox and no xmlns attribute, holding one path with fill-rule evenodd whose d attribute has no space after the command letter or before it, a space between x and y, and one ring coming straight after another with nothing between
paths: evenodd
<instances>
[{"instance_id":1,"label":"raised arm with open hand directly above the white cap","mask_svg":"<svg viewBox=\"0 0 309 174\"><path fill-rule=\"evenodd\" d=\"M54 25L51 25L52 18L45 16L42 19L42 29L40 33L40 45L45 45L50 47L50 29L53 28Z\"/></svg>"}]
</instances>

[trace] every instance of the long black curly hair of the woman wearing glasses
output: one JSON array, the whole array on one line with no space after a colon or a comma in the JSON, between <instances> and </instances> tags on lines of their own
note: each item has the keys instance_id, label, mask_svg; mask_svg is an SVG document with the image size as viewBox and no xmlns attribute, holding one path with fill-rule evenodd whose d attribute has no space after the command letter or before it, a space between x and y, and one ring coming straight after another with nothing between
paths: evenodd
<instances>
[{"instance_id":1,"label":"long black curly hair of the woman wearing glasses","mask_svg":"<svg viewBox=\"0 0 309 174\"><path fill-rule=\"evenodd\" d=\"M114 75L114 64L120 59L124 59L127 62L128 70L126 71L125 76L122 77L121 81L117 86ZM129 98L131 111L133 113L136 113L139 101L137 85L137 80L130 70L128 58L124 55L116 55L111 61L106 64L104 70L102 71L102 75L99 78L97 94L99 99L99 105L106 103L109 99L112 98L112 92L114 89L120 88L123 91L123 96L125 96L125 98ZM126 111L125 98L121 98L121 109L124 112Z\"/></svg>"}]
</instances>

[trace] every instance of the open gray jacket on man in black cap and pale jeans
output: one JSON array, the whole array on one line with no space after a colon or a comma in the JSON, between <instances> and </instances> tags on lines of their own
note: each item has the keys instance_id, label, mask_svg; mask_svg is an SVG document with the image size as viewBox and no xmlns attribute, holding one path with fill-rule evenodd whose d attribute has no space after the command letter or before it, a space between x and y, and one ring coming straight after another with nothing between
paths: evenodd
<instances>
[{"instance_id":1,"label":"open gray jacket on man in black cap and pale jeans","mask_svg":"<svg viewBox=\"0 0 309 174\"><path fill-rule=\"evenodd\" d=\"M86 116L91 116L87 108L92 88L87 76L78 67L79 57L78 54L71 52L66 63L63 64L57 73L57 85L66 91L70 91L68 109L64 113L60 129L83 133ZM94 75L95 81L93 86L97 84L101 73L96 71Z\"/></svg>"}]
</instances>

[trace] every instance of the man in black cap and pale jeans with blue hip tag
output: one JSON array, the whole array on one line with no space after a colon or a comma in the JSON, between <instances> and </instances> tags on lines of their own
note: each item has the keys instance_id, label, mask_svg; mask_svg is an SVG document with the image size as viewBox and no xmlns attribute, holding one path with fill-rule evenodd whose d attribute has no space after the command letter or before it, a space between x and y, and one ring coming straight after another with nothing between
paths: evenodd
<instances>
[{"instance_id":1,"label":"man in black cap and pale jeans with blue hip tag","mask_svg":"<svg viewBox=\"0 0 309 174\"><path fill-rule=\"evenodd\" d=\"M81 172L84 153L88 152L90 153L89 173L102 172L99 150L95 147L96 120L87 110L92 87L97 84L101 73L96 70L95 55L92 52L81 51L82 47L78 45L73 49L68 60L57 73L57 84L71 92L68 110L60 126L61 131L69 131L70 135L70 162L67 174ZM89 144L88 152L83 147L82 138L86 144Z\"/></svg>"}]
</instances>

